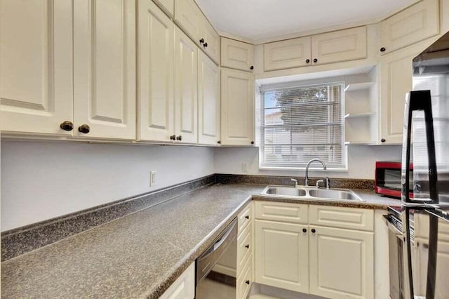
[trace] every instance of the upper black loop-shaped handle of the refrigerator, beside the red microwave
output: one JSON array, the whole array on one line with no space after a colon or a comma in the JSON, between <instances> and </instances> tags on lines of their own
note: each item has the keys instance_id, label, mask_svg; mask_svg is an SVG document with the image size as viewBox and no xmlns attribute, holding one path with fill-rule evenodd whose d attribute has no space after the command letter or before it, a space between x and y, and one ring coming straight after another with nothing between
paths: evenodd
<instances>
[{"instance_id":1,"label":"upper black loop-shaped handle of the refrigerator, beside the red microwave","mask_svg":"<svg viewBox=\"0 0 449 299\"><path fill-rule=\"evenodd\" d=\"M413 111L424 111L424 121L426 125L427 154L429 161L429 193L430 199L417 200L410 199L410 146L412 131L412 114ZM432 117L432 106L430 91L410 91L406 95L406 107L404 111L404 131L403 131L403 147L402 147L402 194L401 200L403 204L438 204L438 190L436 177L436 154L435 154L435 137L434 137L434 119Z\"/></svg>"}]
</instances>

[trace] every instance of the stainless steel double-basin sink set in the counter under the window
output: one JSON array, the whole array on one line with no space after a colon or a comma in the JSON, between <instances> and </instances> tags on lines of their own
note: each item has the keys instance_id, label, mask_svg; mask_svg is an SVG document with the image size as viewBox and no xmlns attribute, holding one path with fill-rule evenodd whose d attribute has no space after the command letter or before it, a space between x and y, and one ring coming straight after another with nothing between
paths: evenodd
<instances>
[{"instance_id":1,"label":"stainless steel double-basin sink set in the counter under the window","mask_svg":"<svg viewBox=\"0 0 449 299\"><path fill-rule=\"evenodd\" d=\"M317 187L267 186L263 195L292 197L297 199L323 199L335 201L363 201L355 192L343 189L319 189Z\"/></svg>"}]
</instances>

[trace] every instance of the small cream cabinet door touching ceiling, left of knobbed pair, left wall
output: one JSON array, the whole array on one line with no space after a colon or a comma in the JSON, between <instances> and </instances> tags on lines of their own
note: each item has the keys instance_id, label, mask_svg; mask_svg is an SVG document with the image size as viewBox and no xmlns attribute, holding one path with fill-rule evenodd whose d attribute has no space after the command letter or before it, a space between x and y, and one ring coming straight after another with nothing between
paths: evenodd
<instances>
[{"instance_id":1,"label":"small cream cabinet door touching ceiling, left of knobbed pair, left wall","mask_svg":"<svg viewBox=\"0 0 449 299\"><path fill-rule=\"evenodd\" d=\"M175 21L196 43L201 39L202 18L204 16L194 0L175 0Z\"/></svg>"}]
</instances>

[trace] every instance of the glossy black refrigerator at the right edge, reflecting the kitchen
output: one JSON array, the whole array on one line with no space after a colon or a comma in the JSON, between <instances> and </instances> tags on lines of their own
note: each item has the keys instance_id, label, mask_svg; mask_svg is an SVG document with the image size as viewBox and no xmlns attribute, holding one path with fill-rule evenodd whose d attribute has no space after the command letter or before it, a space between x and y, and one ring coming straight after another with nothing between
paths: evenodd
<instances>
[{"instance_id":1,"label":"glossy black refrigerator at the right edge, reflecting the kitchen","mask_svg":"<svg viewBox=\"0 0 449 299\"><path fill-rule=\"evenodd\" d=\"M401 175L399 298L449 298L449 32L413 59Z\"/></svg>"}]
</instances>

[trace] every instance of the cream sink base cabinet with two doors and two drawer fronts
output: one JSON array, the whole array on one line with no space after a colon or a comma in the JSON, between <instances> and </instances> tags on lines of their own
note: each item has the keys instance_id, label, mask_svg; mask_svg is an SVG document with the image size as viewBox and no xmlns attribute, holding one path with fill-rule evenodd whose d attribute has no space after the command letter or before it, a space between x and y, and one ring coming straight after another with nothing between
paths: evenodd
<instances>
[{"instance_id":1,"label":"cream sink base cabinet with two doors and two drawer fronts","mask_svg":"<svg viewBox=\"0 0 449 299\"><path fill-rule=\"evenodd\" d=\"M373 210L256 201L255 218L255 282L374 298Z\"/></svg>"}]
</instances>

